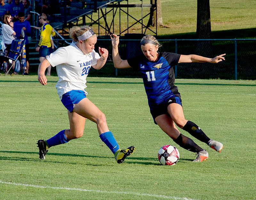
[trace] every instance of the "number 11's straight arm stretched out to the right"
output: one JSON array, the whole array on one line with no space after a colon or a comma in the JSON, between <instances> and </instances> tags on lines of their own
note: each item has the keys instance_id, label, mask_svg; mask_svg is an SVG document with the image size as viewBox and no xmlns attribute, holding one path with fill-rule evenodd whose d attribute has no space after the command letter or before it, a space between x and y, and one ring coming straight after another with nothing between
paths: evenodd
<instances>
[{"instance_id":1,"label":"number 11's straight arm stretched out to the right","mask_svg":"<svg viewBox=\"0 0 256 200\"><path fill-rule=\"evenodd\" d=\"M216 56L215 58L206 58L203 56L198 55L180 55L179 63L218 63L222 60L225 60L223 56L226 54L221 54L219 56Z\"/></svg>"}]
</instances>

